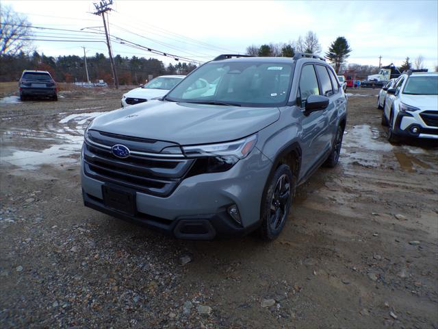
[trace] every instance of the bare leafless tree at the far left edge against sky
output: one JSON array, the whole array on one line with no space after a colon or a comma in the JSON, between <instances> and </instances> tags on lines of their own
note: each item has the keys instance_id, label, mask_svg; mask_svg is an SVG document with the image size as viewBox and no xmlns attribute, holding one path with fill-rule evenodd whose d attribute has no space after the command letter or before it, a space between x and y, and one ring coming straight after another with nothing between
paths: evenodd
<instances>
[{"instance_id":1,"label":"bare leafless tree at the far left edge against sky","mask_svg":"<svg viewBox=\"0 0 438 329\"><path fill-rule=\"evenodd\" d=\"M10 6L0 10L0 56L15 55L31 45L31 27L27 18L17 14Z\"/></svg>"}]
</instances>

